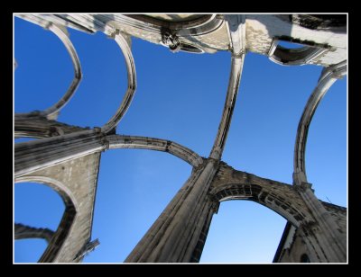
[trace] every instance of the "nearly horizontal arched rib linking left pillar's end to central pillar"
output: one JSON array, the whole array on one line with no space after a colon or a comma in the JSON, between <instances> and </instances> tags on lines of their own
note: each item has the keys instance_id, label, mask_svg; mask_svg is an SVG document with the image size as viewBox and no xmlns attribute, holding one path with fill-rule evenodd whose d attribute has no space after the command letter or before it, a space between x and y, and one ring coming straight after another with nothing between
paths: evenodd
<instances>
[{"instance_id":1,"label":"nearly horizontal arched rib linking left pillar's end to central pillar","mask_svg":"<svg viewBox=\"0 0 361 277\"><path fill-rule=\"evenodd\" d=\"M203 163L203 159L190 148L183 147L178 143L166 139L154 139L148 137L109 135L106 136L109 149L115 148L141 148L156 151L168 152L178 156L185 162L195 167Z\"/></svg>"}]
</instances>

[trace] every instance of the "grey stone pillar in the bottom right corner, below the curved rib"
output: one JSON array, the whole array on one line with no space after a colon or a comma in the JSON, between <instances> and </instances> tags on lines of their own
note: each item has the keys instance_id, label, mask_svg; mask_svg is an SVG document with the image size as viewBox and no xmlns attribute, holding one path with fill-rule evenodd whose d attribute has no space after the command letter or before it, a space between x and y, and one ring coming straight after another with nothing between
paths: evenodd
<instances>
[{"instance_id":1,"label":"grey stone pillar in the bottom right corner, below the curved rib","mask_svg":"<svg viewBox=\"0 0 361 277\"><path fill-rule=\"evenodd\" d=\"M310 253L315 255L316 260L312 262L346 263L346 236L338 231L337 223L331 218L329 211L316 198L310 189L309 183L302 183L297 188L301 198L316 220L316 223L310 226L301 225L300 227Z\"/></svg>"}]
</instances>

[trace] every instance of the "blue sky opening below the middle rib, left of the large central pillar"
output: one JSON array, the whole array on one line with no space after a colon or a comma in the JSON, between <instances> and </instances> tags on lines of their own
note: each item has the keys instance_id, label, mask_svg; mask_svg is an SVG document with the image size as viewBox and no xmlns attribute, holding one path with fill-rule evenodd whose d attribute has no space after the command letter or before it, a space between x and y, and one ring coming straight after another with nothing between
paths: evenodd
<instances>
[{"instance_id":1,"label":"blue sky opening below the middle rib, left of the large central pillar","mask_svg":"<svg viewBox=\"0 0 361 277\"><path fill-rule=\"evenodd\" d=\"M123 263L190 171L189 164L164 152L114 149L103 153L92 228L100 246L83 263Z\"/></svg>"}]
</instances>

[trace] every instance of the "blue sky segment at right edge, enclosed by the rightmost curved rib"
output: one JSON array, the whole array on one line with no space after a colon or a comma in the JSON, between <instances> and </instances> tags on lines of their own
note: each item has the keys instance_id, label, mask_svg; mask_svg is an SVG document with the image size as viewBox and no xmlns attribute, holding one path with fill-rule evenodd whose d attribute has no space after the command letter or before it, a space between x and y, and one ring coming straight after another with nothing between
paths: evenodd
<instances>
[{"instance_id":1,"label":"blue sky segment at right edge, enclosed by the rightmost curved rib","mask_svg":"<svg viewBox=\"0 0 361 277\"><path fill-rule=\"evenodd\" d=\"M347 76L337 80L312 116L305 147L307 180L321 201L347 207ZM329 170L333 168L333 170Z\"/></svg>"}]
</instances>

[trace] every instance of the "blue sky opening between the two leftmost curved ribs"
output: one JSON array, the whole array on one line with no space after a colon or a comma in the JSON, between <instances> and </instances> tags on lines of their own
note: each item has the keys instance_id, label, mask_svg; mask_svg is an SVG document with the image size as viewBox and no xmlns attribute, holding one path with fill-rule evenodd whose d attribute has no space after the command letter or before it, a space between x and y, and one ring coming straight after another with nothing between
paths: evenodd
<instances>
[{"instance_id":1,"label":"blue sky opening between the two leftmost curved ribs","mask_svg":"<svg viewBox=\"0 0 361 277\"><path fill-rule=\"evenodd\" d=\"M69 32L83 61L84 77L59 121L85 128L101 127L113 119L124 101L128 85L125 56L116 40L109 40L100 31L91 36L71 29Z\"/></svg>"}]
</instances>

